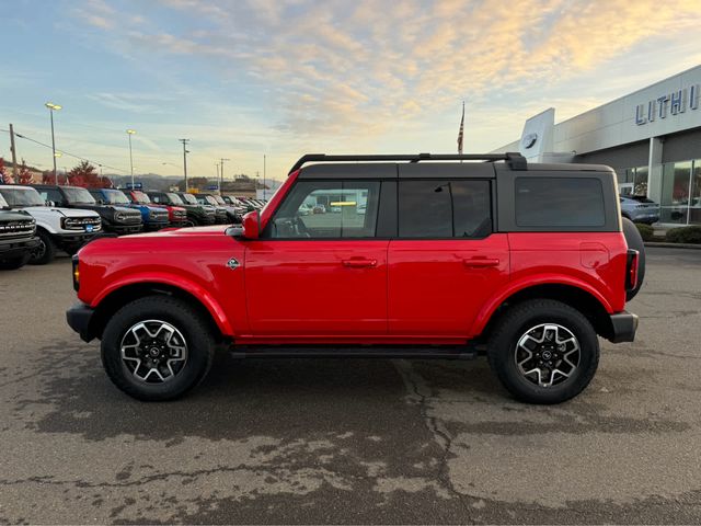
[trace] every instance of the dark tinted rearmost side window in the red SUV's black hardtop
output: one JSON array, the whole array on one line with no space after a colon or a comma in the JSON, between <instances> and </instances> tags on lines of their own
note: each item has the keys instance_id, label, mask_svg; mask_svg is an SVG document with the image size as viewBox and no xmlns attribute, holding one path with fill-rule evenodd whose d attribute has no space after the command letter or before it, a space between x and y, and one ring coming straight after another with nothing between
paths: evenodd
<instances>
[{"instance_id":1,"label":"dark tinted rearmost side window in the red SUV's black hardtop","mask_svg":"<svg viewBox=\"0 0 701 526\"><path fill-rule=\"evenodd\" d=\"M604 190L598 179L516 178L519 227L602 227Z\"/></svg>"}]
</instances>

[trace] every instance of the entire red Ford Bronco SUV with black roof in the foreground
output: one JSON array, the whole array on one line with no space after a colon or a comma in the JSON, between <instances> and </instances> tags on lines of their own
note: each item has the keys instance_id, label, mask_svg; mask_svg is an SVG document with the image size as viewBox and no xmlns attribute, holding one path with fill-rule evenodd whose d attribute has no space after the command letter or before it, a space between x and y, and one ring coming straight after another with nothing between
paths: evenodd
<instances>
[{"instance_id":1,"label":"entire red Ford Bronco SUV with black roof in the foreground","mask_svg":"<svg viewBox=\"0 0 701 526\"><path fill-rule=\"evenodd\" d=\"M81 249L68 323L141 400L195 387L225 343L238 356L485 352L514 397L558 403L591 380L597 335L635 335L624 308L644 252L617 196L610 168L518 153L309 155L242 226Z\"/></svg>"}]
</instances>

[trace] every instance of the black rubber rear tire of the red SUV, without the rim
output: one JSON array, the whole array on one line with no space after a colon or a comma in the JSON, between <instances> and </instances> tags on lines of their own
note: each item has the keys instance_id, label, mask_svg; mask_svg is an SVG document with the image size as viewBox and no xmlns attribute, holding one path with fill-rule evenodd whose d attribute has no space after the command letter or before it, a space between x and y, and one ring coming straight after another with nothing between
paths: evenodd
<instances>
[{"instance_id":1,"label":"black rubber rear tire of the red SUV, without the rim","mask_svg":"<svg viewBox=\"0 0 701 526\"><path fill-rule=\"evenodd\" d=\"M519 340L541 323L564 328L579 344L577 367L570 377L549 387L529 379L517 365ZM589 320L578 310L552 299L532 299L517 304L502 315L491 332L487 358L492 370L514 398L527 403L561 403L582 392L594 378L599 364L599 341ZM562 379L561 376L558 378Z\"/></svg>"}]
</instances>

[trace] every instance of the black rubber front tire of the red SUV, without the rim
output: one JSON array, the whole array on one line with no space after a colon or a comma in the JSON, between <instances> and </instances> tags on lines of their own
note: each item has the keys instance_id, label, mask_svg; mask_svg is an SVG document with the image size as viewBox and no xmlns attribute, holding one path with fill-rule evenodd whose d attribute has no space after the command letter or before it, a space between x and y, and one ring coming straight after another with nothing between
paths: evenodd
<instances>
[{"instance_id":1,"label":"black rubber front tire of the red SUV, without the rim","mask_svg":"<svg viewBox=\"0 0 701 526\"><path fill-rule=\"evenodd\" d=\"M168 381L137 378L122 358L122 343L129 330L147 320L166 322L184 339L185 363ZM122 391L143 401L172 400L196 387L209 371L214 353L215 338L204 316L186 301L168 296L148 296L125 305L107 322L101 344L102 364L110 379Z\"/></svg>"}]
</instances>

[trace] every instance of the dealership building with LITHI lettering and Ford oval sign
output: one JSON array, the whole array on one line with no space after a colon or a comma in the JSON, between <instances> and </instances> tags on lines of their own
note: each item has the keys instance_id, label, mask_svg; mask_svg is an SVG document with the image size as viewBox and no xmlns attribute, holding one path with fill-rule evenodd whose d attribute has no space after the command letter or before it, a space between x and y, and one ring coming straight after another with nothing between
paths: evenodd
<instances>
[{"instance_id":1,"label":"dealership building with LITHI lettering and Ford oval sign","mask_svg":"<svg viewBox=\"0 0 701 526\"><path fill-rule=\"evenodd\" d=\"M660 205L659 222L701 225L701 66L555 124L549 108L494 152L533 162L608 164L621 194Z\"/></svg>"}]
</instances>

